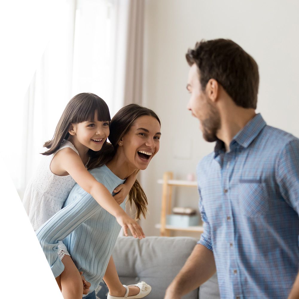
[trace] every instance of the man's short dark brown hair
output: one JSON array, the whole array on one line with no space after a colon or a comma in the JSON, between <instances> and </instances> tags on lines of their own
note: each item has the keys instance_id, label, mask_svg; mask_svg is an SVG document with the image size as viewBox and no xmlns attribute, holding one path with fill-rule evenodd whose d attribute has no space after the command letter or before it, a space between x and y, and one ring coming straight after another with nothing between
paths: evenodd
<instances>
[{"instance_id":1,"label":"man's short dark brown hair","mask_svg":"<svg viewBox=\"0 0 299 299\"><path fill-rule=\"evenodd\" d=\"M210 79L225 89L237 106L257 108L259 71L255 60L230 39L202 40L186 54L199 69L202 90Z\"/></svg>"}]
</instances>

